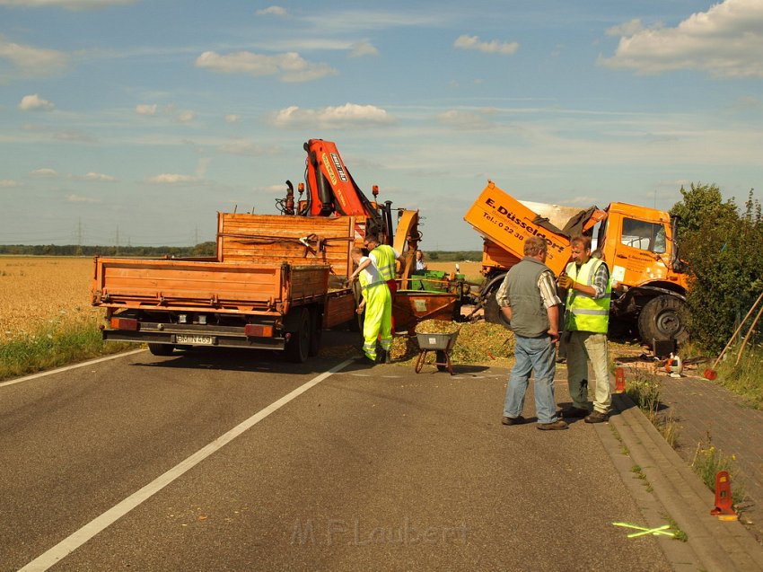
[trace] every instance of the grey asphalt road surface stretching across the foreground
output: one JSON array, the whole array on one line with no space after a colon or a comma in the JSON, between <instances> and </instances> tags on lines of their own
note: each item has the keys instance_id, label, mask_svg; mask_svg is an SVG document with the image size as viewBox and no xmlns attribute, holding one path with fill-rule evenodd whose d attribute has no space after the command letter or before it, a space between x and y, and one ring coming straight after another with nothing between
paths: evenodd
<instances>
[{"instance_id":1,"label":"grey asphalt road surface stretching across the foreground","mask_svg":"<svg viewBox=\"0 0 763 572\"><path fill-rule=\"evenodd\" d=\"M592 426L501 425L505 370L344 360L145 351L0 386L0 570L670 569L613 525L643 516Z\"/></svg>"}]
</instances>

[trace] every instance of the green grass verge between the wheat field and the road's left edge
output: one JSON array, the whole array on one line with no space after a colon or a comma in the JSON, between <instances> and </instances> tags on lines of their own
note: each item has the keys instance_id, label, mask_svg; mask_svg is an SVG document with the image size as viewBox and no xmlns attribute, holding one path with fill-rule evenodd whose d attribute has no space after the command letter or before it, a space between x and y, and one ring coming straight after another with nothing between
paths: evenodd
<instances>
[{"instance_id":1,"label":"green grass verge between the wheat field and the road's left edge","mask_svg":"<svg viewBox=\"0 0 763 572\"><path fill-rule=\"evenodd\" d=\"M0 343L0 381L115 354L134 344L106 343L96 319L59 321Z\"/></svg>"}]
</instances>

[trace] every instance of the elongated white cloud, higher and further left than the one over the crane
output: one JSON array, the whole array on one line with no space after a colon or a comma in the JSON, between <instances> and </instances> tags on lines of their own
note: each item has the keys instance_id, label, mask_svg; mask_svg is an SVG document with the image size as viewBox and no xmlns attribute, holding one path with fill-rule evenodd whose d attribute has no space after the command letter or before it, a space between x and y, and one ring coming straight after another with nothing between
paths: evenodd
<instances>
[{"instance_id":1,"label":"elongated white cloud, higher and further left than the one over the crane","mask_svg":"<svg viewBox=\"0 0 763 572\"><path fill-rule=\"evenodd\" d=\"M241 51L223 56L206 51L197 57L196 66L223 74L276 75L282 82L310 82L338 74L333 67L309 62L296 52L265 56Z\"/></svg>"}]
</instances>

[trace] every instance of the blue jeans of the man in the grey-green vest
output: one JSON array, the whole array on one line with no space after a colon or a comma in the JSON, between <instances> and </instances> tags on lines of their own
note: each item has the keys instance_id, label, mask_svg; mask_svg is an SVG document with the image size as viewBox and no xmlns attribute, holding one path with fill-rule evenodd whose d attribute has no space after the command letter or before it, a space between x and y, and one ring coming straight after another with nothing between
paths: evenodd
<instances>
[{"instance_id":1,"label":"blue jeans of the man in the grey-green vest","mask_svg":"<svg viewBox=\"0 0 763 572\"><path fill-rule=\"evenodd\" d=\"M557 402L554 400L554 375L557 373L555 354L548 336L514 336L514 366L506 387L505 417L516 418L522 413L530 374L535 371L535 410L538 422L553 423L557 420Z\"/></svg>"}]
</instances>

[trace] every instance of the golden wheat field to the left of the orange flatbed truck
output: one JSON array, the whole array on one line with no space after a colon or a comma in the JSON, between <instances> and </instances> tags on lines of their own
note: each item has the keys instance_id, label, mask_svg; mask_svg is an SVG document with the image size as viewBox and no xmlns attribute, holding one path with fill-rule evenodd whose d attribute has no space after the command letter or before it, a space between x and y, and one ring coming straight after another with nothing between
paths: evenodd
<instances>
[{"instance_id":1,"label":"golden wheat field to the left of the orange flatbed truck","mask_svg":"<svg viewBox=\"0 0 763 572\"><path fill-rule=\"evenodd\" d=\"M0 343L100 321L90 305L92 268L92 258L0 257Z\"/></svg>"}]
</instances>

